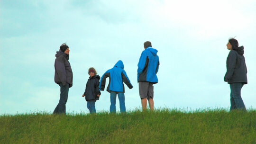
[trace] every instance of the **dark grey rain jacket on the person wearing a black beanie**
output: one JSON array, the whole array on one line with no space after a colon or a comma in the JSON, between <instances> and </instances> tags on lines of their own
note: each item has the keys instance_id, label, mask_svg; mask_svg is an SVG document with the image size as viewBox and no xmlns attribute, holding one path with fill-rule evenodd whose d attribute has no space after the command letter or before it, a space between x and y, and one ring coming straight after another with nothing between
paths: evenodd
<instances>
[{"instance_id":1,"label":"dark grey rain jacket on the person wearing a black beanie","mask_svg":"<svg viewBox=\"0 0 256 144\"><path fill-rule=\"evenodd\" d=\"M54 63L55 75L54 81L57 84L62 83L64 86L69 84L69 88L73 86L73 72L71 70L70 63L68 62L69 54L65 54L61 51L56 52L56 59Z\"/></svg>"}]
</instances>

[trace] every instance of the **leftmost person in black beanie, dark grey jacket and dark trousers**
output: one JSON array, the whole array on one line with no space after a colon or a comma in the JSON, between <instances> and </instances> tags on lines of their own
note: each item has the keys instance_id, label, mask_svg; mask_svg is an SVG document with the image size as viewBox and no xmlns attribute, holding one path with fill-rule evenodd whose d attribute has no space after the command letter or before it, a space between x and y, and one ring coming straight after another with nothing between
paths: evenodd
<instances>
[{"instance_id":1,"label":"leftmost person in black beanie, dark grey jacket and dark trousers","mask_svg":"<svg viewBox=\"0 0 256 144\"><path fill-rule=\"evenodd\" d=\"M73 85L73 72L70 63L68 62L69 51L69 47L64 43L60 46L60 51L55 54L54 81L60 86L60 100L53 114L66 114L68 89Z\"/></svg>"}]
</instances>

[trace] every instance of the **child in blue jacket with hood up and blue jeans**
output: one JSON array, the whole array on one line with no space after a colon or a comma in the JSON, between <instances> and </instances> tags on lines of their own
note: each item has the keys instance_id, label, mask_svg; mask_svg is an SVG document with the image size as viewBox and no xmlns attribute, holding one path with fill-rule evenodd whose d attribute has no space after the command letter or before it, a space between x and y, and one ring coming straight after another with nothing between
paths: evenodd
<instances>
[{"instance_id":1,"label":"child in blue jacket with hood up and blue jeans","mask_svg":"<svg viewBox=\"0 0 256 144\"><path fill-rule=\"evenodd\" d=\"M107 91L110 92L110 112L116 112L116 98L118 94L120 111L126 112L125 108L125 96L124 96L124 84L128 86L129 89L132 89L133 86L124 70L124 64L122 61L118 61L114 67L107 72L105 72L100 81L100 90L104 90L106 79L109 77L109 85Z\"/></svg>"}]
</instances>

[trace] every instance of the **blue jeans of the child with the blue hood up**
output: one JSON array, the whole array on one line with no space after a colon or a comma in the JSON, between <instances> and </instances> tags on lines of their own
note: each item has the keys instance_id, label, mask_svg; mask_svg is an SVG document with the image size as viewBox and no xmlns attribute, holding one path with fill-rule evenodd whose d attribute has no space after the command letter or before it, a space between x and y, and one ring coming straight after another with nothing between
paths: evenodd
<instances>
[{"instance_id":1,"label":"blue jeans of the child with the blue hood up","mask_svg":"<svg viewBox=\"0 0 256 144\"><path fill-rule=\"evenodd\" d=\"M116 92L116 91L111 91L110 92L110 113L116 113L116 99L117 99L117 94L118 94L118 99L119 99L119 104L120 104L120 111L121 112L126 112L125 109L125 97L123 92Z\"/></svg>"}]
</instances>

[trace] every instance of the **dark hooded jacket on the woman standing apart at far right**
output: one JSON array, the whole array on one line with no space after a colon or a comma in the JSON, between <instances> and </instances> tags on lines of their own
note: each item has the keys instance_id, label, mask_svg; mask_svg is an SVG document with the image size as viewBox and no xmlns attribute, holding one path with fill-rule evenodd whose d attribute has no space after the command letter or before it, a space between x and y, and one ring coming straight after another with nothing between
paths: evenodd
<instances>
[{"instance_id":1,"label":"dark hooded jacket on the woman standing apart at far right","mask_svg":"<svg viewBox=\"0 0 256 144\"><path fill-rule=\"evenodd\" d=\"M244 46L231 50L227 57L227 72L224 81L228 83L241 82L247 84L247 67L244 57Z\"/></svg>"}]
</instances>

